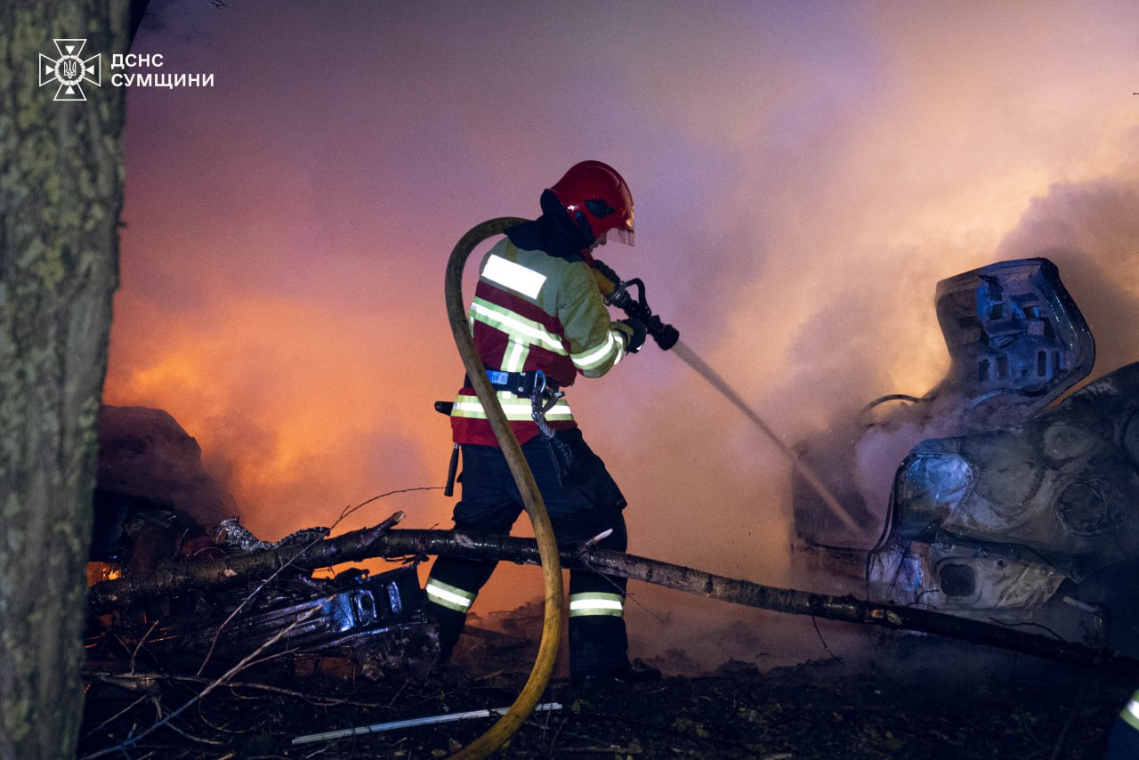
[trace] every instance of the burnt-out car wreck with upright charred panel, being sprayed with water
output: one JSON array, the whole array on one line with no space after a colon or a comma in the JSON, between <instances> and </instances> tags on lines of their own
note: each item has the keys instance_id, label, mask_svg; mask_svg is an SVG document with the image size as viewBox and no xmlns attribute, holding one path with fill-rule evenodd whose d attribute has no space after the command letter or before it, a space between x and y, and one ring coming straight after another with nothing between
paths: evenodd
<instances>
[{"instance_id":1,"label":"burnt-out car wreck with upright charred panel, being sprayed with water","mask_svg":"<svg viewBox=\"0 0 1139 760\"><path fill-rule=\"evenodd\" d=\"M839 530L796 483L798 556L871 600L1134 656L1139 363L1049 407L1091 371L1095 343L1047 259L942 280L936 310L945 379L871 402L843 443L801 447L842 463L829 484L866 531Z\"/></svg>"}]
</instances>

